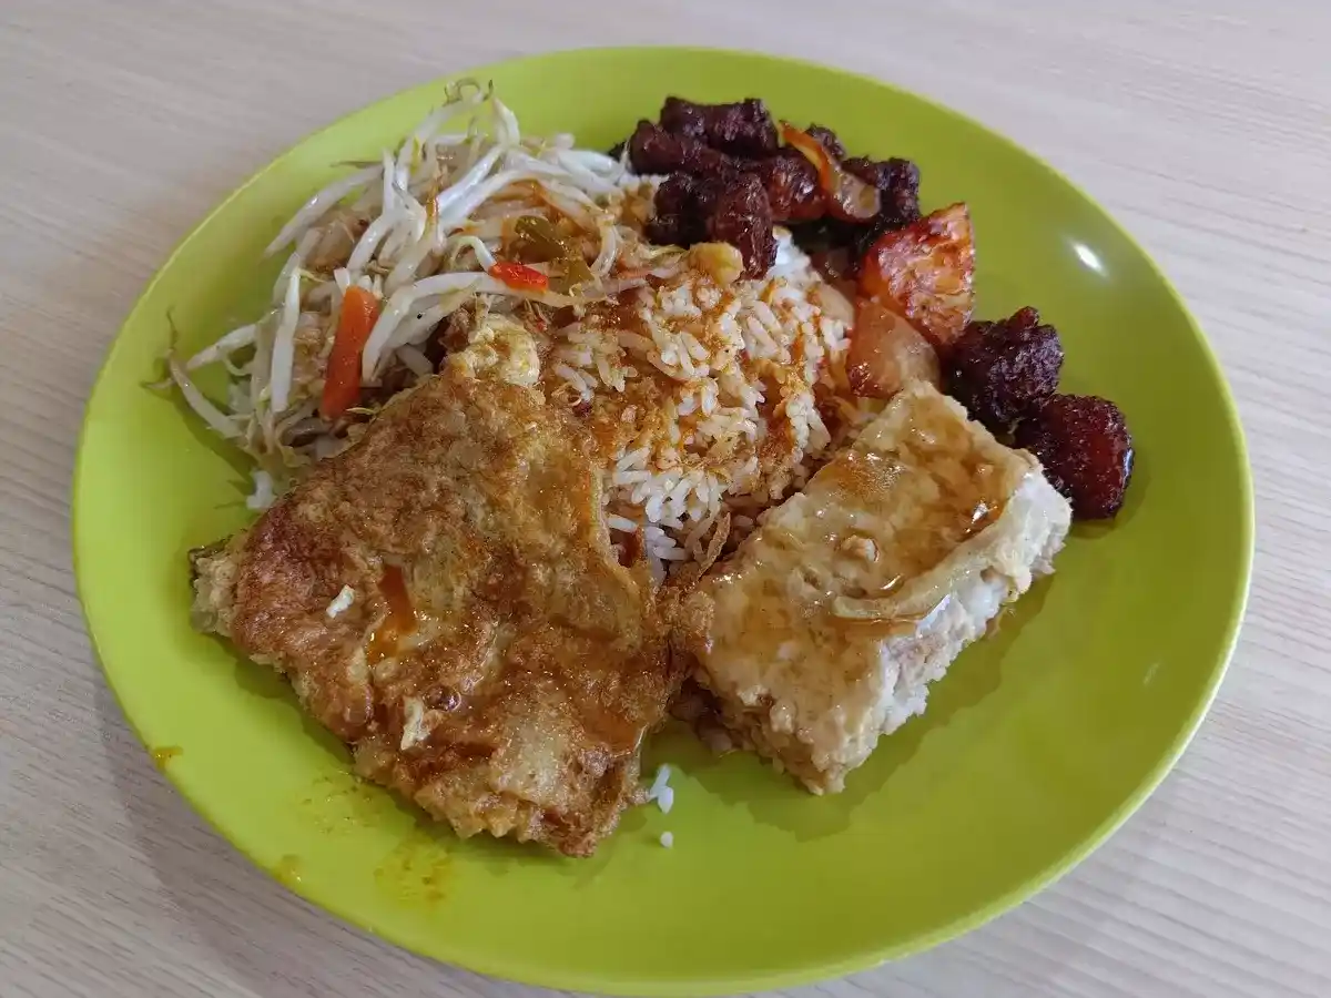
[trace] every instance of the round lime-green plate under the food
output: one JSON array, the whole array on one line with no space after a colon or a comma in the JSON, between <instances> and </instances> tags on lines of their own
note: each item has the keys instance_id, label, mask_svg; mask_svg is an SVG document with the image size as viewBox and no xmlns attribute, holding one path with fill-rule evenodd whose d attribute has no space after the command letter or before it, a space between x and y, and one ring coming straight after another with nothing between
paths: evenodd
<instances>
[{"instance_id":1,"label":"round lime-green plate under the food","mask_svg":"<svg viewBox=\"0 0 1331 998\"><path fill-rule=\"evenodd\" d=\"M1221 681L1252 547L1247 460L1215 358L1146 254L1006 140L872 80L696 49L563 52L471 71L524 130L607 148L662 98L764 97L856 152L908 156L929 206L965 200L978 314L1032 303L1062 333L1063 389L1115 399L1137 438L1127 506L1078 528L1058 574L966 651L910 721L817 798L749 756L658 739L675 809L628 814L592 860L457 841L347 776L291 693L189 627L185 552L246 522L241 466L142 387L168 345L257 314L260 253L331 178L441 98L443 81L306 138L213 212L130 313L88 405L75 554L125 716L193 805L287 886L418 953L552 987L659 995L827 978L974 927L1066 872L1165 776ZM663 849L662 832L673 833Z\"/></svg>"}]
</instances>

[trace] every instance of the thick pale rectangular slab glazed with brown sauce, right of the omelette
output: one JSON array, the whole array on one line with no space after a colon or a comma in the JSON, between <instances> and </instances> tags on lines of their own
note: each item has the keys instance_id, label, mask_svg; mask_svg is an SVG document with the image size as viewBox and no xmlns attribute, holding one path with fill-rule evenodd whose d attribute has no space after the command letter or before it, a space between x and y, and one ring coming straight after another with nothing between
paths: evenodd
<instances>
[{"instance_id":1,"label":"thick pale rectangular slab glazed with brown sauce, right of the omelette","mask_svg":"<svg viewBox=\"0 0 1331 998\"><path fill-rule=\"evenodd\" d=\"M1053 571L1069 518L1029 454L916 382L703 580L676 640L740 744L836 792Z\"/></svg>"}]
</instances>

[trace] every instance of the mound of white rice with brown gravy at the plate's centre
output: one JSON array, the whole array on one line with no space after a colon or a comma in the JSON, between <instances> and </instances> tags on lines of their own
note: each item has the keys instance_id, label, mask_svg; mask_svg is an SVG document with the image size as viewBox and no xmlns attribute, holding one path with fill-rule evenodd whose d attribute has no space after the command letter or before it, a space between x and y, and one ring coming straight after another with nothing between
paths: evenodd
<instances>
[{"instance_id":1,"label":"mound of white rice with brown gravy at the plate's centre","mask_svg":"<svg viewBox=\"0 0 1331 998\"><path fill-rule=\"evenodd\" d=\"M624 291L612 317L579 310L552 334L547 390L622 406L606 522L615 544L639 536L658 578L703 556L723 511L737 542L829 452L815 386L837 393L845 323L820 306L827 285L785 233L779 261L728 285L689 262ZM655 386L646 406L630 398L635 381Z\"/></svg>"}]
</instances>

